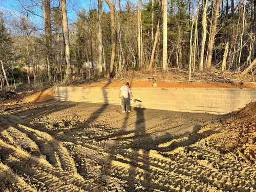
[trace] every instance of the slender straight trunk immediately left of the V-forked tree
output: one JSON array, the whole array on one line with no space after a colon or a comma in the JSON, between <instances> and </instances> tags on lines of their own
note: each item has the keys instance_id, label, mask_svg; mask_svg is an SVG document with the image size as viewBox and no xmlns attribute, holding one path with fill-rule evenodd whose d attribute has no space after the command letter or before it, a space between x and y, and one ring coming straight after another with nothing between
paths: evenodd
<instances>
[{"instance_id":1,"label":"slender straight trunk immediately left of the V-forked tree","mask_svg":"<svg viewBox=\"0 0 256 192\"><path fill-rule=\"evenodd\" d=\"M98 75L102 74L102 0L98 0Z\"/></svg>"}]
</instances>

